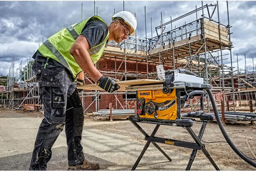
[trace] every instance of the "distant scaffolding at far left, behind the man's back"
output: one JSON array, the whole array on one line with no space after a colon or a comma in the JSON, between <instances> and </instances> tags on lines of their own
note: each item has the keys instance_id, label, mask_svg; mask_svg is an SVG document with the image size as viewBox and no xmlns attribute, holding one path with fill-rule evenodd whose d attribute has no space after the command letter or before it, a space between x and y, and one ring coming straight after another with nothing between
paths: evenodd
<instances>
[{"instance_id":1,"label":"distant scaffolding at far left, behind the man's back","mask_svg":"<svg viewBox=\"0 0 256 171\"><path fill-rule=\"evenodd\" d=\"M7 102L4 101L2 105L17 110L39 110L42 105L38 82L36 82L32 71L33 61L27 61L23 70L20 64L16 74L14 74L14 63L15 61L13 60L7 78L5 92L7 94Z\"/></svg>"}]
</instances>

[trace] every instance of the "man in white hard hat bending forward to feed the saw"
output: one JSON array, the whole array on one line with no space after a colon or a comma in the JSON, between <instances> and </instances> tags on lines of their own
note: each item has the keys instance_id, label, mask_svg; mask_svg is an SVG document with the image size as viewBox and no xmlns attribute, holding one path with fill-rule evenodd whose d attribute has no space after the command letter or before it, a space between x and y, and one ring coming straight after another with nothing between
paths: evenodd
<instances>
[{"instance_id":1,"label":"man in white hard hat bending forward to feed the saw","mask_svg":"<svg viewBox=\"0 0 256 171\"><path fill-rule=\"evenodd\" d=\"M76 89L76 77L85 72L98 86L109 93L119 86L112 78L104 77L94 66L106 43L120 43L135 35L137 20L127 11L113 15L110 26L98 16L71 25L53 36L34 54L33 70L39 80L44 119L38 130L30 170L46 170L54 145L65 125L68 145L68 170L98 170L82 152L84 113Z\"/></svg>"}]
</instances>

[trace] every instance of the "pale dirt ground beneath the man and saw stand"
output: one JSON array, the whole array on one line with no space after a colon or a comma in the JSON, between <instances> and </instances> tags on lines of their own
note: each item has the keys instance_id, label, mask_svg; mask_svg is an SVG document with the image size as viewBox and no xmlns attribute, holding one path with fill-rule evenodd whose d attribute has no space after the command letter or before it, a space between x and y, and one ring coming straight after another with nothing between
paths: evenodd
<instances>
[{"instance_id":1,"label":"pale dirt ground beneath the man and saw stand","mask_svg":"<svg viewBox=\"0 0 256 171\"><path fill-rule=\"evenodd\" d=\"M0 170L28 170L34 139L42 120L41 112L23 112L0 107ZM139 123L151 134L154 124ZM193 131L198 134L200 121L194 121ZM225 125L234 144L249 158L256 158L256 125L231 123ZM64 132L64 131L63 131ZM67 154L65 133L61 133L52 148L49 170L66 170ZM160 126L156 137L194 142L182 127ZM101 170L130 170L143 150L146 141L129 120L95 120L86 116L82 146L86 158L98 162ZM225 142L217 123L207 124L202 137L206 150L220 170L255 170L234 153ZM138 164L137 170L185 170L191 149L158 143L172 162L152 144ZM255 160L254 160L255 161ZM201 150L191 170L215 170Z\"/></svg>"}]
</instances>

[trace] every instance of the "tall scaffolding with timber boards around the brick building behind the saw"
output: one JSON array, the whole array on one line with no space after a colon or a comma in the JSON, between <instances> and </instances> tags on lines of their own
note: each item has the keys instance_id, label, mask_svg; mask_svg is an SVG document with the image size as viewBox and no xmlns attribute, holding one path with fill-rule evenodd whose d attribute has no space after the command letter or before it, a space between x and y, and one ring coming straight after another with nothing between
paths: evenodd
<instances>
[{"instance_id":1,"label":"tall scaffolding with timber boards around the brick building behind the saw","mask_svg":"<svg viewBox=\"0 0 256 171\"><path fill-rule=\"evenodd\" d=\"M213 9L211 12L210 8ZM161 20L161 25L156 27L157 36L155 37L146 37L145 40L130 38L122 44L110 42L102 57L105 60L114 61L114 69L102 70L102 67L97 67L103 75L120 80L127 80L127 77L156 79L155 66L163 64L166 70L179 68L191 70L204 77L204 81L214 85L215 89L234 91L233 86L230 89L230 87L226 88L224 84L224 74L233 75L233 67L223 64L223 51L228 51L231 58L231 26L229 21L228 25L223 25L219 20L213 19L216 9L218 12L218 2L210 5L203 5L202 2L202 7L181 17L174 20L171 18L167 23L162 23ZM204 15L205 11L208 13L207 16ZM197 17L198 12L202 13L201 18ZM173 28L175 22L180 23L180 20L191 18L194 13L196 13L195 20ZM158 33L159 31L160 33ZM138 72L138 63L145 64L145 70ZM136 65L136 71L127 70L127 64ZM124 70L119 72L122 65L124 65ZM151 72L150 67L153 67ZM220 80L220 82L217 83L216 80ZM97 104L97 101L94 102ZM97 109L95 108L96 112Z\"/></svg>"}]
</instances>

